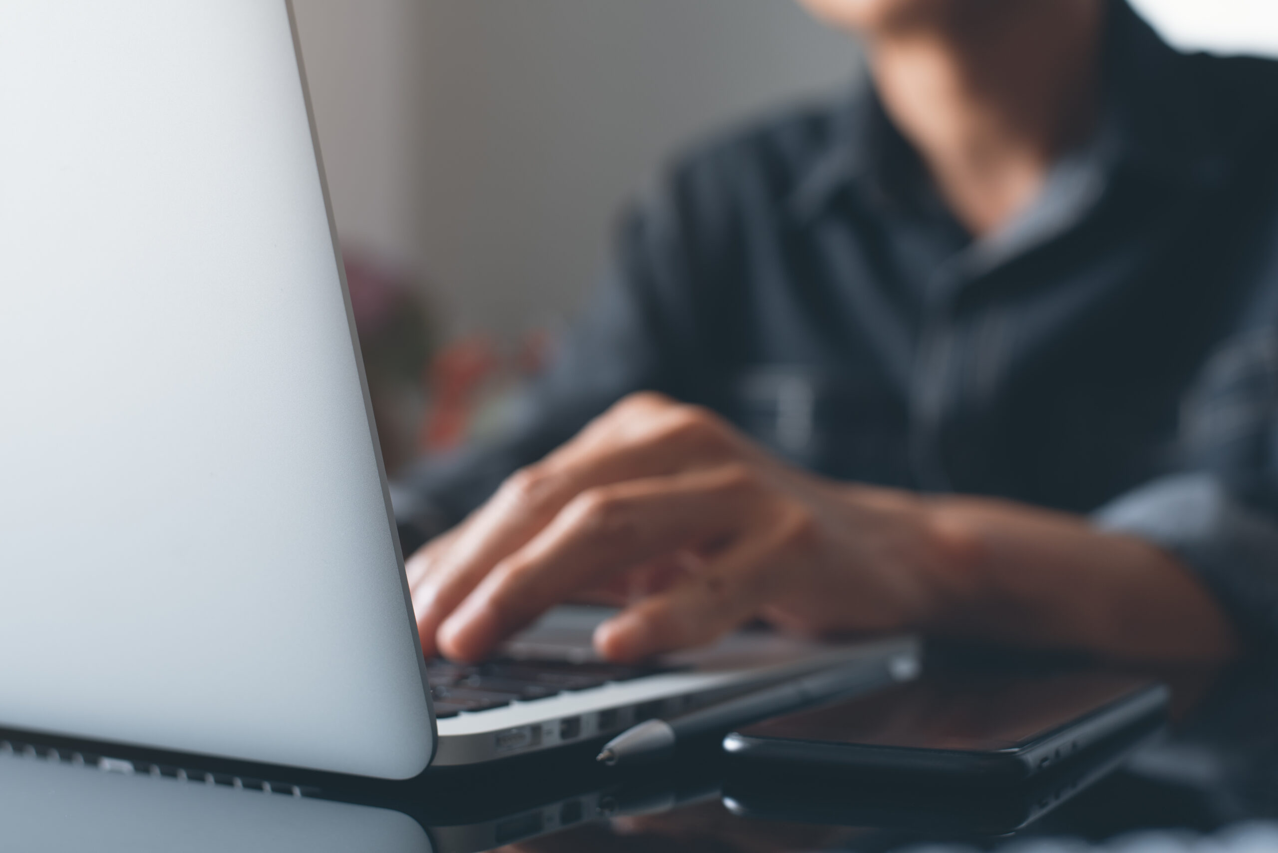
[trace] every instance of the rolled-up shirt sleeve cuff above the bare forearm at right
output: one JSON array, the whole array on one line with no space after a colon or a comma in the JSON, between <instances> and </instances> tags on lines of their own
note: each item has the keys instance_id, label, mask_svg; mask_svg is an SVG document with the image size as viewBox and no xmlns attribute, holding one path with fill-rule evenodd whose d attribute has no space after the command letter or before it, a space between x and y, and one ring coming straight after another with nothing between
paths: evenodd
<instances>
[{"instance_id":1,"label":"rolled-up shirt sleeve cuff above the bare forearm at right","mask_svg":"<svg viewBox=\"0 0 1278 853\"><path fill-rule=\"evenodd\" d=\"M1093 516L1103 530L1140 536L1194 571L1247 646L1278 651L1278 524L1213 474L1154 480Z\"/></svg>"}]
</instances>

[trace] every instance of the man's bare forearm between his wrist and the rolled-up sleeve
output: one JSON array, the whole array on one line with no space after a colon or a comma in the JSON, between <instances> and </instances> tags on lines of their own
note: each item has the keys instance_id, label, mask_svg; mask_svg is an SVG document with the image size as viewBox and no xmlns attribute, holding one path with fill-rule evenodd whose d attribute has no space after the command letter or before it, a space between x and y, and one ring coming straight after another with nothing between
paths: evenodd
<instances>
[{"instance_id":1,"label":"man's bare forearm between his wrist and the rolled-up sleeve","mask_svg":"<svg viewBox=\"0 0 1278 853\"><path fill-rule=\"evenodd\" d=\"M925 502L943 557L928 630L1146 660L1222 660L1236 633L1174 557L1082 518L1003 501Z\"/></svg>"}]
</instances>

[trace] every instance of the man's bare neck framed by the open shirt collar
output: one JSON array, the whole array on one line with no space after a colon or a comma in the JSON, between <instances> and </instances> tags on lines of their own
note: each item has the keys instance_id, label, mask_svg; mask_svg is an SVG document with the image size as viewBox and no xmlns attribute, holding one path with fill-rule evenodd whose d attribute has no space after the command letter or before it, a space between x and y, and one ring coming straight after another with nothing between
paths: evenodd
<instances>
[{"instance_id":1,"label":"man's bare neck framed by the open shirt collar","mask_svg":"<svg viewBox=\"0 0 1278 853\"><path fill-rule=\"evenodd\" d=\"M1103 0L988 0L962 19L877 33L883 105L980 236L1025 209L1098 112Z\"/></svg>"}]
</instances>

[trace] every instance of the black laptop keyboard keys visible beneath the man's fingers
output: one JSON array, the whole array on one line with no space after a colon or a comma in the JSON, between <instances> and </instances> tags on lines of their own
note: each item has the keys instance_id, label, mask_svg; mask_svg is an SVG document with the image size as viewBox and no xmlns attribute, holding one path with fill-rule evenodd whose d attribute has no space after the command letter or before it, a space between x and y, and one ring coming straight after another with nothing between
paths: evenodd
<instances>
[{"instance_id":1,"label":"black laptop keyboard keys visible beneath the man's fingers","mask_svg":"<svg viewBox=\"0 0 1278 853\"><path fill-rule=\"evenodd\" d=\"M487 711L515 701L529 702L661 672L670 669L606 663L574 664L565 660L498 659L482 664L455 664L440 659L426 661L436 718L456 716L461 711Z\"/></svg>"}]
</instances>

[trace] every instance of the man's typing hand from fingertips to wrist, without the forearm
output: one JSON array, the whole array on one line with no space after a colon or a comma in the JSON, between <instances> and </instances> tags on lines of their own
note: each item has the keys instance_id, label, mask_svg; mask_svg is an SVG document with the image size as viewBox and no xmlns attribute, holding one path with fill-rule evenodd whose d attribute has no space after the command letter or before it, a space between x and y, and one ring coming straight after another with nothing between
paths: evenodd
<instances>
[{"instance_id":1,"label":"man's typing hand from fingertips to wrist, without the forearm","mask_svg":"<svg viewBox=\"0 0 1278 853\"><path fill-rule=\"evenodd\" d=\"M636 660L755 617L918 626L935 607L937 550L918 501L804 474L716 415L644 393L414 554L409 582L423 646L463 660L584 590L630 593L596 642Z\"/></svg>"}]
</instances>

